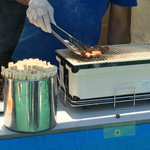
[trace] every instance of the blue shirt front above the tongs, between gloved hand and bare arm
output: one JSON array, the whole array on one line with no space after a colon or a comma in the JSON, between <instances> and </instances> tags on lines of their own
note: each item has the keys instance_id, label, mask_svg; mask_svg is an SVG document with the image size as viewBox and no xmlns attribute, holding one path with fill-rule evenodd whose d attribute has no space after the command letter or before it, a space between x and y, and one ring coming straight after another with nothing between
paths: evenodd
<instances>
[{"instance_id":1,"label":"blue shirt front above the tongs, between gloved hand and bare arm","mask_svg":"<svg viewBox=\"0 0 150 150\"><path fill-rule=\"evenodd\" d=\"M108 8L109 0L49 0L49 2L54 7L55 20L60 27L85 44L96 44L100 35L101 19Z\"/></svg>"}]
</instances>

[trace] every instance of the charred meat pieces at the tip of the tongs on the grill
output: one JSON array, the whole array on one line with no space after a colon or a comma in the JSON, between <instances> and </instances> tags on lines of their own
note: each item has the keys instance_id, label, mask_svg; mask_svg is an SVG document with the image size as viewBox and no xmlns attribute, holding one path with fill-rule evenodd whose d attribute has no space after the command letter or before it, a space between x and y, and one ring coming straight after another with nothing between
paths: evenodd
<instances>
[{"instance_id":1,"label":"charred meat pieces at the tip of the tongs on the grill","mask_svg":"<svg viewBox=\"0 0 150 150\"><path fill-rule=\"evenodd\" d=\"M109 51L108 46L103 46L100 47L99 45L95 45L93 47L91 46L86 46L86 50L81 50L81 56L82 57L87 57L87 58L91 58L91 57L99 57L102 54L106 53Z\"/></svg>"}]
</instances>

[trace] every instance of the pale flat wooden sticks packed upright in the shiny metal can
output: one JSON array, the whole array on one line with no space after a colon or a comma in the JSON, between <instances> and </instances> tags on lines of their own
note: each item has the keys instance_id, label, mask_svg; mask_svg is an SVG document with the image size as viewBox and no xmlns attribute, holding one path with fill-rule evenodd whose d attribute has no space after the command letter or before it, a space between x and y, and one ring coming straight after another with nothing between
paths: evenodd
<instances>
[{"instance_id":1,"label":"pale flat wooden sticks packed upright in the shiny metal can","mask_svg":"<svg viewBox=\"0 0 150 150\"><path fill-rule=\"evenodd\" d=\"M57 74L57 67L39 59L24 59L8 63L8 68L1 66L4 77L16 80L41 80Z\"/></svg>"}]
</instances>

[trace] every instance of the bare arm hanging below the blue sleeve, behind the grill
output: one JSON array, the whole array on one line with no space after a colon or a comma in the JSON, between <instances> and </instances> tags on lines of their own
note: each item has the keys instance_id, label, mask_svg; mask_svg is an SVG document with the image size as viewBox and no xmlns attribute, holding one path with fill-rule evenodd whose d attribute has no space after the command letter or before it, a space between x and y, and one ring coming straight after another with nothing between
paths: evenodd
<instances>
[{"instance_id":1,"label":"bare arm hanging below the blue sleeve, behind the grill","mask_svg":"<svg viewBox=\"0 0 150 150\"><path fill-rule=\"evenodd\" d=\"M130 42L130 8L111 4L108 44L126 44Z\"/></svg>"}]
</instances>

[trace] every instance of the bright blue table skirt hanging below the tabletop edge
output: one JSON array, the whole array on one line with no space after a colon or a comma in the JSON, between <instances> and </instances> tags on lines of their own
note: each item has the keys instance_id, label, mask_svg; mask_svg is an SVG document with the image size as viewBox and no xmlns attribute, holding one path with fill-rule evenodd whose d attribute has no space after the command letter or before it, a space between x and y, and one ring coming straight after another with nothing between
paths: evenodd
<instances>
[{"instance_id":1,"label":"bright blue table skirt hanging below the tabletop edge","mask_svg":"<svg viewBox=\"0 0 150 150\"><path fill-rule=\"evenodd\" d=\"M150 150L150 124L130 136L104 137L104 129L0 140L0 150Z\"/></svg>"}]
</instances>

